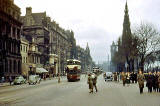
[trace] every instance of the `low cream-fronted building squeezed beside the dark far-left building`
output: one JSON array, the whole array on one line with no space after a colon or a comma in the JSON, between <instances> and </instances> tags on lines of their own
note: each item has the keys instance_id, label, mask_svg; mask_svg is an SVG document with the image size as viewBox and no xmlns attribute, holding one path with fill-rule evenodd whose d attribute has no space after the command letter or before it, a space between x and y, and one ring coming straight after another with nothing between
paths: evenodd
<instances>
[{"instance_id":1,"label":"low cream-fronted building squeezed beside the dark far-left building","mask_svg":"<svg viewBox=\"0 0 160 106\"><path fill-rule=\"evenodd\" d=\"M27 36L29 37L29 36ZM30 74L36 73L36 67L41 67L41 53L38 51L36 39L29 41L26 36L21 36L21 55L22 55L22 75L28 77Z\"/></svg>"}]
</instances>

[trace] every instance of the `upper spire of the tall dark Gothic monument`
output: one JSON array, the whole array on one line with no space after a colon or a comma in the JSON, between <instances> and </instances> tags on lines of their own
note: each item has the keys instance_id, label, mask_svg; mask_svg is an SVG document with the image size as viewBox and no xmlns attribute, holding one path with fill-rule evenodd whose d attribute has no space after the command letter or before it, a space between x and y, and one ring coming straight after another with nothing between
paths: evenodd
<instances>
[{"instance_id":1,"label":"upper spire of the tall dark Gothic monument","mask_svg":"<svg viewBox=\"0 0 160 106\"><path fill-rule=\"evenodd\" d=\"M126 39L131 36L127 1L126 1L124 13L125 14L124 14L123 32L122 32L122 44L125 44Z\"/></svg>"}]
</instances>

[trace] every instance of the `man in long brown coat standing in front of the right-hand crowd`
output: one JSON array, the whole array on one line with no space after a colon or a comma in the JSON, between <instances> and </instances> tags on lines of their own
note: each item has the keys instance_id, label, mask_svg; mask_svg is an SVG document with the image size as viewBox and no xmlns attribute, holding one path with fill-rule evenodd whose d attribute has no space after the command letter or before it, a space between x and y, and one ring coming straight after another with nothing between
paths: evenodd
<instances>
[{"instance_id":1,"label":"man in long brown coat standing in front of the right-hand crowd","mask_svg":"<svg viewBox=\"0 0 160 106\"><path fill-rule=\"evenodd\" d=\"M144 88L144 74L142 74L142 71L139 70L139 74L137 76L137 80L138 80L138 84L139 84L139 90L140 90L140 94L143 93L143 88Z\"/></svg>"}]
</instances>

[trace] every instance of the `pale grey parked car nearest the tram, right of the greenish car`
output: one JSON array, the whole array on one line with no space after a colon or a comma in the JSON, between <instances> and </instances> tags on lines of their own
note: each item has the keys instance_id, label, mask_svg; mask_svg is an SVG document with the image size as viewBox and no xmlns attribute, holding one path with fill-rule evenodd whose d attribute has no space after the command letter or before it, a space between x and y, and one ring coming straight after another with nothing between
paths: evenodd
<instances>
[{"instance_id":1,"label":"pale grey parked car nearest the tram, right of the greenish car","mask_svg":"<svg viewBox=\"0 0 160 106\"><path fill-rule=\"evenodd\" d=\"M37 84L40 83L41 78L39 77L39 75L30 75L29 76L29 80L28 83L30 84Z\"/></svg>"}]
</instances>

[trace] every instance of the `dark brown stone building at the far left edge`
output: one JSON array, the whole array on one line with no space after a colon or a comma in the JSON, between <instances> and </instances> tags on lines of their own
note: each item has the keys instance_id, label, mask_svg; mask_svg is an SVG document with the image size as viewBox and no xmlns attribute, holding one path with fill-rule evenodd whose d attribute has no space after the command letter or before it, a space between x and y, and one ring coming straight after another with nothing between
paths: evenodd
<instances>
[{"instance_id":1,"label":"dark brown stone building at the far left edge","mask_svg":"<svg viewBox=\"0 0 160 106\"><path fill-rule=\"evenodd\" d=\"M0 78L21 74L20 14L14 0L0 0Z\"/></svg>"}]
</instances>

